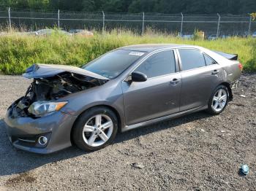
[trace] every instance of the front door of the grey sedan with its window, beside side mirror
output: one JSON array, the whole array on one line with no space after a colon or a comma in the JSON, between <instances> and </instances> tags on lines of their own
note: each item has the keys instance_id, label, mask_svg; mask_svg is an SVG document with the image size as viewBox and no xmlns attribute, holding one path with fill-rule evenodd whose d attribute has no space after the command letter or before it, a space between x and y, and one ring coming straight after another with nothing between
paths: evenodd
<instances>
[{"instance_id":1,"label":"front door of the grey sedan with its window, beside side mirror","mask_svg":"<svg viewBox=\"0 0 256 191\"><path fill-rule=\"evenodd\" d=\"M127 125L153 120L179 111L181 74L176 73L173 50L154 53L135 71L146 74L146 82L122 82Z\"/></svg>"}]
</instances>

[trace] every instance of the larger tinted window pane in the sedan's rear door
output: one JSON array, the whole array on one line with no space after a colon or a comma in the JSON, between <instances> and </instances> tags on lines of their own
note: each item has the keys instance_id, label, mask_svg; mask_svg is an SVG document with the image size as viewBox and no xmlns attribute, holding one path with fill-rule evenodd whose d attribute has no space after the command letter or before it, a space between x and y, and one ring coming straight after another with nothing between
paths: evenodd
<instances>
[{"instance_id":1,"label":"larger tinted window pane in the sedan's rear door","mask_svg":"<svg viewBox=\"0 0 256 191\"><path fill-rule=\"evenodd\" d=\"M206 66L206 61L203 54L195 49L179 49L181 56L182 70L197 69Z\"/></svg>"}]
</instances>

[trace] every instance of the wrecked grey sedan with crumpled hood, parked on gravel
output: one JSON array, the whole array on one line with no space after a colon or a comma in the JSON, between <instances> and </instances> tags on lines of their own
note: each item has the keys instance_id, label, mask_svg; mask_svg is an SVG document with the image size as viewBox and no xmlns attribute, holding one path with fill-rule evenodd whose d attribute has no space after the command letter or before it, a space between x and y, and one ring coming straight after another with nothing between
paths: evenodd
<instances>
[{"instance_id":1,"label":"wrecked grey sedan with crumpled hood, parked on gravel","mask_svg":"<svg viewBox=\"0 0 256 191\"><path fill-rule=\"evenodd\" d=\"M75 144L94 151L124 132L233 99L238 55L181 44L120 47L81 66L34 64L5 122L18 149L46 154Z\"/></svg>"}]
</instances>

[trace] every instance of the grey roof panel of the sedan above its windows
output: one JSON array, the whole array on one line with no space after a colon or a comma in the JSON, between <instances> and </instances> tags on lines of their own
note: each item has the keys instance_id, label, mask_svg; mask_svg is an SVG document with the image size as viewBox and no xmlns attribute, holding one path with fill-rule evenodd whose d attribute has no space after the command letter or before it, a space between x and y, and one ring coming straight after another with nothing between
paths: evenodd
<instances>
[{"instance_id":1,"label":"grey roof panel of the sedan above its windows","mask_svg":"<svg viewBox=\"0 0 256 191\"><path fill-rule=\"evenodd\" d=\"M152 52L154 50L165 49L165 48L181 48L181 47L195 47L187 44L136 44L126 47L120 47L122 50L135 50L142 52Z\"/></svg>"}]
</instances>

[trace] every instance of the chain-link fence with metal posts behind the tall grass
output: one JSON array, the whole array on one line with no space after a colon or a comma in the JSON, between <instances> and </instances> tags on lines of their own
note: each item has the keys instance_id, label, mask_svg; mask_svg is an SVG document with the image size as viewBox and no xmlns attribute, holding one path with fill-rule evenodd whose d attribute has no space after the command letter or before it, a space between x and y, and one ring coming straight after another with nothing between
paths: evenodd
<instances>
[{"instance_id":1,"label":"chain-link fence with metal posts behind the tall grass","mask_svg":"<svg viewBox=\"0 0 256 191\"><path fill-rule=\"evenodd\" d=\"M138 13L121 14L109 12L25 12L0 11L1 28L18 28L34 31L57 27L64 30L127 29L144 34L148 28L167 34L192 36L195 30L205 36L249 36L256 31L256 22L249 15L186 15Z\"/></svg>"}]
</instances>

